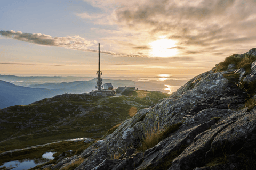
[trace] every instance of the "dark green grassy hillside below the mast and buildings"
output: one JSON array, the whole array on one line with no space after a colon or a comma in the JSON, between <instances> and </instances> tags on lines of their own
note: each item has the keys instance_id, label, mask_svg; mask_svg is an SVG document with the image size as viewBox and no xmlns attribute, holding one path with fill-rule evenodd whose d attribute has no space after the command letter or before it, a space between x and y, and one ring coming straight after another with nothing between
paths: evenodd
<instances>
[{"instance_id":1,"label":"dark green grassy hillside below the mast and buildings","mask_svg":"<svg viewBox=\"0 0 256 170\"><path fill-rule=\"evenodd\" d=\"M142 90L111 97L64 94L2 109L0 152L72 138L101 137L139 109L167 96Z\"/></svg>"}]
</instances>

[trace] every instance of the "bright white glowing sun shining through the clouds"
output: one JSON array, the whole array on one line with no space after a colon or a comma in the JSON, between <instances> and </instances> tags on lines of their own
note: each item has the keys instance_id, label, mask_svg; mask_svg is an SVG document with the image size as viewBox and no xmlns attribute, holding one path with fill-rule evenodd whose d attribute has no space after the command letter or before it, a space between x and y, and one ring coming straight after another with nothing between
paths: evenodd
<instances>
[{"instance_id":1,"label":"bright white glowing sun shining through the clouds","mask_svg":"<svg viewBox=\"0 0 256 170\"><path fill-rule=\"evenodd\" d=\"M158 39L149 43L151 45L150 53L154 57L172 57L178 53L175 47L176 41L171 39Z\"/></svg>"}]
</instances>

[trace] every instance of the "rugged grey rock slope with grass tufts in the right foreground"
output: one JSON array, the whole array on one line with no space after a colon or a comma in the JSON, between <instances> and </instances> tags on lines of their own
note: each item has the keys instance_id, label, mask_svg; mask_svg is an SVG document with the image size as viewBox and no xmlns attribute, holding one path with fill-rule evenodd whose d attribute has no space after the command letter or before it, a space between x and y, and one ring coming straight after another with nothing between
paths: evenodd
<instances>
[{"instance_id":1,"label":"rugged grey rock slope with grass tufts in the right foreground","mask_svg":"<svg viewBox=\"0 0 256 170\"><path fill-rule=\"evenodd\" d=\"M231 63L225 71L212 69L191 79L73 158L84 158L76 170L250 169L256 161L256 108L241 108L248 95L236 84L253 82L255 65L247 75ZM139 149L147 132L156 127L165 132L175 125L178 128L157 145Z\"/></svg>"}]
</instances>

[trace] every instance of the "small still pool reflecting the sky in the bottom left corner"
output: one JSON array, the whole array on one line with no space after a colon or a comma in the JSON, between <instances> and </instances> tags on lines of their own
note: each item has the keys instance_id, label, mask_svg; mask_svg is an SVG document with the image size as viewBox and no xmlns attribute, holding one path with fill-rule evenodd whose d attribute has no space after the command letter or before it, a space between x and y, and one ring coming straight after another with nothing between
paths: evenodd
<instances>
[{"instance_id":1,"label":"small still pool reflecting the sky in the bottom left corner","mask_svg":"<svg viewBox=\"0 0 256 170\"><path fill-rule=\"evenodd\" d=\"M42 158L40 159L23 159L9 161L7 163L4 163L4 165L0 166L0 168L5 166L6 168L14 167L13 170L30 169L54 159L54 157L52 156L54 153L55 152L46 152L42 155Z\"/></svg>"}]
</instances>

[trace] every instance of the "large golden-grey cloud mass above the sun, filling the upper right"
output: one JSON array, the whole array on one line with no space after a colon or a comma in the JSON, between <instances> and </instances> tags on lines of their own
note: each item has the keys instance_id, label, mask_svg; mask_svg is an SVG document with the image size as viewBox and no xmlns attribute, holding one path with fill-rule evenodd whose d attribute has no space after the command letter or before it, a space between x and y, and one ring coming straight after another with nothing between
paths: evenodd
<instances>
[{"instance_id":1,"label":"large golden-grey cloud mass above the sun, filling the upper right","mask_svg":"<svg viewBox=\"0 0 256 170\"><path fill-rule=\"evenodd\" d=\"M108 8L105 21L115 23L119 31L130 31L137 38L154 41L159 36L177 41L182 55L206 54L210 48L216 53L245 50L256 46L255 0L153 0L129 1L122 0L88 0L92 6ZM105 11L106 12L106 11ZM100 23L98 19L93 21ZM142 36L143 34L143 36ZM150 37L145 40L145 35ZM114 35L113 35L114 36ZM242 44L243 43L243 47ZM135 44L135 43L133 43ZM236 47L240 45L241 48ZM142 48L133 48L141 50ZM222 50L219 52L219 50ZM196 51L196 52L195 52Z\"/></svg>"}]
</instances>

